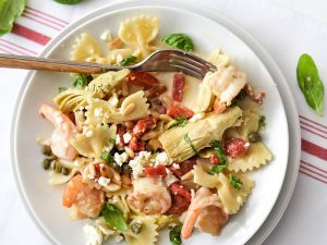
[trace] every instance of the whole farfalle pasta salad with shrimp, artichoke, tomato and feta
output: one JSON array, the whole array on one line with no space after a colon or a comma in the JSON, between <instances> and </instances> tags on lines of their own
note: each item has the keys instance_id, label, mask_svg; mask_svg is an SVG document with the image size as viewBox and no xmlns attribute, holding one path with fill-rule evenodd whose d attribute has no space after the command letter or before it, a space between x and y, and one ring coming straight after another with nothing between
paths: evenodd
<instances>
[{"instance_id":1,"label":"whole farfalle pasta salad with shrimp, artichoke, tomato and feta","mask_svg":"<svg viewBox=\"0 0 327 245\"><path fill-rule=\"evenodd\" d=\"M186 34L159 41L158 33L159 19L149 15L125 20L101 40L82 33L71 60L128 65L165 46L195 50ZM207 60L217 72L203 81L128 69L72 74L56 106L40 106L55 126L40 142L43 166L49 184L63 185L70 219L92 218L87 244L154 245L166 228L173 245L194 230L219 235L245 204L255 187L246 172L272 158L261 136L265 93L254 91L222 50Z\"/></svg>"}]
</instances>

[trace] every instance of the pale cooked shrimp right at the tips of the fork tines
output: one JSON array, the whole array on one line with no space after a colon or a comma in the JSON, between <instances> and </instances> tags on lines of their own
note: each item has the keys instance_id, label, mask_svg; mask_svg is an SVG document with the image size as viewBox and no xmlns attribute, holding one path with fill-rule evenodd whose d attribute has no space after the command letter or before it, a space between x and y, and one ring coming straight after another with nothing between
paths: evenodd
<instances>
[{"instance_id":1,"label":"pale cooked shrimp right at the tips of the fork tines","mask_svg":"<svg viewBox=\"0 0 327 245\"><path fill-rule=\"evenodd\" d=\"M219 68L215 73L205 77L211 86L213 93L218 98L219 108L230 106L232 99L240 93L246 84L246 74L238 71L234 66ZM203 82L205 83L205 82ZM218 108L218 105L216 105Z\"/></svg>"}]
</instances>

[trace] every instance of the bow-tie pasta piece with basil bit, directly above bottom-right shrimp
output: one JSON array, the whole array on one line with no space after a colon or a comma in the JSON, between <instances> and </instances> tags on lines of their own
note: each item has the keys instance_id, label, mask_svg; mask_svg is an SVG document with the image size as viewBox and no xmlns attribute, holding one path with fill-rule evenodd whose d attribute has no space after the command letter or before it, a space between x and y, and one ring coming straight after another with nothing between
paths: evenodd
<instances>
[{"instance_id":1,"label":"bow-tie pasta piece with basil bit, directly above bottom-right shrimp","mask_svg":"<svg viewBox=\"0 0 327 245\"><path fill-rule=\"evenodd\" d=\"M228 215L237 213L240 210L255 186L255 182L249 179L245 174L232 174L240 179L240 181L243 183L243 186L240 189L234 188L230 183L229 177L223 173L219 173L218 175L220 182L220 186L218 187L218 196L222 203L225 212Z\"/></svg>"}]
</instances>

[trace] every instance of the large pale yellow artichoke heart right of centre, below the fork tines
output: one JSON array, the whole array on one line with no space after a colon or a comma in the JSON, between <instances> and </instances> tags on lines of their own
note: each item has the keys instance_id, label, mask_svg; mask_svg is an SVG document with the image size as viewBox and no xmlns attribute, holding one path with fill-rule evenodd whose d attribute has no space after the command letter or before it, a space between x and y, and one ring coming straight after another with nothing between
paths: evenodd
<instances>
[{"instance_id":1,"label":"large pale yellow artichoke heart right of centre, below the fork tines","mask_svg":"<svg viewBox=\"0 0 327 245\"><path fill-rule=\"evenodd\" d=\"M223 132L238 123L241 118L242 110L233 107L223 113L213 113L197 122L187 123L184 127L173 127L165 132L159 142L170 158L181 162L210 146L213 139L220 140ZM185 140L185 135L190 140Z\"/></svg>"}]
</instances>

